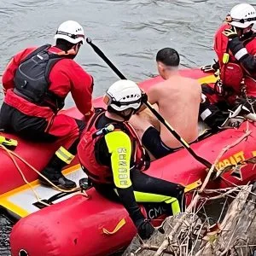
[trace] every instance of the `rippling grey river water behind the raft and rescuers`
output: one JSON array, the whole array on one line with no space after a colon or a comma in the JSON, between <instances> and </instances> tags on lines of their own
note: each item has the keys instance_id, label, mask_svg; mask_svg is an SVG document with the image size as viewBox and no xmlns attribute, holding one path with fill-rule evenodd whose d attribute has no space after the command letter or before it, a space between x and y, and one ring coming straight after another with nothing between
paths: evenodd
<instances>
[{"instance_id":1,"label":"rippling grey river water behind the raft and rescuers","mask_svg":"<svg viewBox=\"0 0 256 256\"><path fill-rule=\"evenodd\" d=\"M53 44L57 26L77 20L87 37L129 79L156 74L155 54L177 49L182 67L209 64L213 34L235 0L1 0L0 73L10 57L27 46ZM252 0L247 3L255 3ZM95 79L94 96L117 80L88 44L76 60ZM71 97L67 107L73 106ZM1 161L1 160L0 160ZM4 177L0 177L0 183ZM9 220L0 217L0 256L9 255Z\"/></svg>"}]
</instances>

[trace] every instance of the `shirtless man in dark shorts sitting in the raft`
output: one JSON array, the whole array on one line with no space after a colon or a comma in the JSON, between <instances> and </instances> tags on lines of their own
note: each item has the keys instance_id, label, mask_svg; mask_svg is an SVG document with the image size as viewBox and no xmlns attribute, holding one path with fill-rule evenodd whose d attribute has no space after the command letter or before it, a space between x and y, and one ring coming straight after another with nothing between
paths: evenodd
<instances>
[{"instance_id":1,"label":"shirtless man in dark shorts sitting in the raft","mask_svg":"<svg viewBox=\"0 0 256 256\"><path fill-rule=\"evenodd\" d=\"M164 82L152 86L148 92L148 102L156 104L159 113L172 125L173 129L192 143L198 137L198 114L201 102L201 84L195 79L184 78L178 72L179 55L175 49L164 48L156 55L160 76ZM160 124L160 131L155 129L150 118L141 112L130 119L145 148L155 159L170 154L181 143L172 136L166 126Z\"/></svg>"}]
</instances>

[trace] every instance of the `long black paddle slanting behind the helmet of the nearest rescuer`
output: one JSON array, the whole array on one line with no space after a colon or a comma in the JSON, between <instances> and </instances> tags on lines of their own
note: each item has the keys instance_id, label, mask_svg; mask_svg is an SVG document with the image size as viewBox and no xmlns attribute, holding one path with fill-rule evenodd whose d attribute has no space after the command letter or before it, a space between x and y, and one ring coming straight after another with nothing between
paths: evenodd
<instances>
[{"instance_id":1,"label":"long black paddle slanting behind the helmet of the nearest rescuer","mask_svg":"<svg viewBox=\"0 0 256 256\"><path fill-rule=\"evenodd\" d=\"M126 79L125 76L120 73L119 69L117 67L115 67L113 65L113 63L108 59L108 57L106 55L104 55L104 53L102 52L101 49L99 49L95 44L93 44L91 42L91 39L90 38L86 38L86 43L87 44L90 44L90 46L92 47L92 49L94 49L94 51L96 52L97 55L99 55L103 61L105 61L109 67L111 67L111 69L113 70L114 73L116 73L120 79ZM144 101L143 102L148 108L149 110L154 113L154 116L159 119L159 121L166 126L167 130L170 131L172 133L172 135L180 142L182 143L183 147L186 148L188 151L189 151L189 154L191 154L195 160L198 160L199 162L201 162L201 164L203 164L204 166L207 166L207 168L211 168L212 167L212 164L202 158L200 155L198 154L195 154L195 151L190 148L189 146L189 143L187 143L182 137L180 137L177 133L177 131L175 131L173 128L172 128L172 125L170 125L166 119L164 119L160 113L158 113L154 108L153 106L148 102L148 101Z\"/></svg>"}]
</instances>

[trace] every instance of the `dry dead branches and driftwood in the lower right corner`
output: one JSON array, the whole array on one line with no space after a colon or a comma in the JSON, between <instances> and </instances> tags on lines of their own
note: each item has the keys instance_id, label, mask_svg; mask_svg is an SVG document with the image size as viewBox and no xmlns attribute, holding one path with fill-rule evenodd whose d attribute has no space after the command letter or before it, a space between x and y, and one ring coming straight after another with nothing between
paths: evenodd
<instances>
[{"instance_id":1,"label":"dry dead branches and driftwood in the lower right corner","mask_svg":"<svg viewBox=\"0 0 256 256\"><path fill-rule=\"evenodd\" d=\"M250 131L246 131L235 143L225 147L214 161L214 165L229 148L240 143L249 134ZM256 163L255 159L251 159L250 163ZM256 185L206 189L214 165L208 172L201 189L195 191L194 198L186 211L166 218L160 227L160 230L165 231L164 234L155 230L148 241L135 237L123 255L256 255ZM203 197L202 192L204 195L212 195L214 192L214 196ZM222 207L218 207L220 210L218 219L212 221L209 217L211 214L207 213L207 201L212 201L213 204L213 201L220 199ZM231 200L233 201L230 203Z\"/></svg>"}]
</instances>

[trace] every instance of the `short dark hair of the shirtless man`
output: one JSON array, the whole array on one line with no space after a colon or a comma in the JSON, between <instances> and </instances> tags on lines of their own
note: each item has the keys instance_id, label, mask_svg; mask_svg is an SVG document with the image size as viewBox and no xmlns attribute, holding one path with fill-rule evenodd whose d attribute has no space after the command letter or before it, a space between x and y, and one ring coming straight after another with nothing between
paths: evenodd
<instances>
[{"instance_id":1,"label":"short dark hair of the shirtless man","mask_svg":"<svg viewBox=\"0 0 256 256\"><path fill-rule=\"evenodd\" d=\"M160 61L166 66L177 67L179 65L179 55L175 49L160 49L156 55L156 61Z\"/></svg>"}]
</instances>

